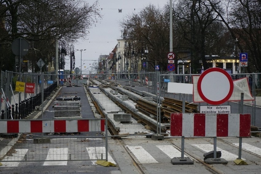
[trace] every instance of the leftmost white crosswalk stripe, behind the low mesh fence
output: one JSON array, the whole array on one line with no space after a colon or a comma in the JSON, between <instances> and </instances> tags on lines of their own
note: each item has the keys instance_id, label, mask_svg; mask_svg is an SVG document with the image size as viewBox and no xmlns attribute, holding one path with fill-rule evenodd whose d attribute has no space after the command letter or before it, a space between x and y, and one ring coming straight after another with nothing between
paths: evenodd
<instances>
[{"instance_id":1,"label":"leftmost white crosswalk stripe, behind the low mesh fence","mask_svg":"<svg viewBox=\"0 0 261 174\"><path fill-rule=\"evenodd\" d=\"M16 153L12 156L6 156L3 161L22 161L27 153L28 149L15 149ZM19 162L1 162L6 167L17 167Z\"/></svg>"}]
</instances>

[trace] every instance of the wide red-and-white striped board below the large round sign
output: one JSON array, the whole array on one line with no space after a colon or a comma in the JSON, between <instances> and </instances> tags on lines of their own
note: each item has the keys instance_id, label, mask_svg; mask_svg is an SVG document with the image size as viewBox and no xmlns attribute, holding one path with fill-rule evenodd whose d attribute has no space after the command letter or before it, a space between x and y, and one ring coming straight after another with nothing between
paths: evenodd
<instances>
[{"instance_id":1,"label":"wide red-and-white striped board below the large round sign","mask_svg":"<svg viewBox=\"0 0 261 174\"><path fill-rule=\"evenodd\" d=\"M250 114L171 113L171 136L249 137Z\"/></svg>"}]
</instances>

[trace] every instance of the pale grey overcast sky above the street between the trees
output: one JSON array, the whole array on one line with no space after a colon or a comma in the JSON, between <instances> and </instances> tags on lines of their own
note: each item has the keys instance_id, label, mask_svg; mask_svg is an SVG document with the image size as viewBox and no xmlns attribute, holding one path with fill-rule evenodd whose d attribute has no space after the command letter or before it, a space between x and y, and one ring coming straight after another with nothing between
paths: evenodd
<instances>
[{"instance_id":1,"label":"pale grey overcast sky above the street between the trees","mask_svg":"<svg viewBox=\"0 0 261 174\"><path fill-rule=\"evenodd\" d=\"M86 2L93 4L95 0L86 0ZM138 13L148 4L163 8L167 2L169 0L99 0L100 9L102 8L100 13L103 17L96 24L96 27L93 26L90 30L90 34L85 38L86 40L81 40L78 45L74 45L74 50L76 50L75 67L81 68L82 59L82 71L89 71L89 67L93 61L98 60L99 55L108 55L113 50L117 44L117 39L121 39L119 20L122 20L123 17L128 14ZM122 13L119 13L118 9L122 9ZM77 49L86 50L82 51L81 55L81 51L77 51ZM69 52L67 51L67 53ZM70 69L70 58L66 61L65 69Z\"/></svg>"}]
</instances>

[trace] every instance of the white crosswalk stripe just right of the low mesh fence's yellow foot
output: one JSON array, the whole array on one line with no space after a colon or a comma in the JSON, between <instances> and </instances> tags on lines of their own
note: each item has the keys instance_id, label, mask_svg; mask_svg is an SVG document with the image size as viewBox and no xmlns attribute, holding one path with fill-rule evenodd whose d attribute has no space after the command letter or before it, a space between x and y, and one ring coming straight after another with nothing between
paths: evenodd
<instances>
[{"instance_id":1,"label":"white crosswalk stripe just right of the low mesh fence's yellow foot","mask_svg":"<svg viewBox=\"0 0 261 174\"><path fill-rule=\"evenodd\" d=\"M127 146L140 163L158 163L142 146Z\"/></svg>"}]
</instances>

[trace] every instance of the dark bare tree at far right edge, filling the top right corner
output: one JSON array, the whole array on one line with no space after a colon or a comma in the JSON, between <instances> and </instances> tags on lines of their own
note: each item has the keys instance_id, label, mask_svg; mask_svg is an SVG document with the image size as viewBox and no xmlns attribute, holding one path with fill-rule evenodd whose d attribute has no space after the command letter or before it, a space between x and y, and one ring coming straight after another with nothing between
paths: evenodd
<instances>
[{"instance_id":1,"label":"dark bare tree at far right edge, filling the top right corner","mask_svg":"<svg viewBox=\"0 0 261 174\"><path fill-rule=\"evenodd\" d=\"M256 0L209 0L220 20L230 31L233 40L238 39L238 51L248 52L249 73L255 68L261 71L261 2ZM237 53L238 56L238 53Z\"/></svg>"}]
</instances>

